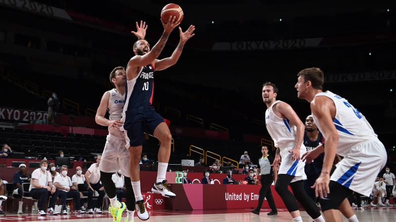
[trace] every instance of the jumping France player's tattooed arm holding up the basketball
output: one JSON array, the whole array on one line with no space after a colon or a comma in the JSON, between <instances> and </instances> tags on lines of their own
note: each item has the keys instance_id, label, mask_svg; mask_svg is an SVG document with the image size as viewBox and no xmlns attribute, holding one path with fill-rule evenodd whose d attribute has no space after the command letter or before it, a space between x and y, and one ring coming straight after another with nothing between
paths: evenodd
<instances>
[{"instance_id":1,"label":"jumping France player's tattooed arm holding up the basketball","mask_svg":"<svg viewBox=\"0 0 396 222\"><path fill-rule=\"evenodd\" d=\"M168 23L164 23L161 20L162 26L164 27L164 32L162 33L162 36L159 38L158 42L152 47L151 51L149 51L147 54L140 56L134 56L132 59L129 60L128 62L128 69L129 68L136 68L136 67L142 67L150 64L153 62L159 54L161 54L162 49L165 47L165 43L168 40L169 34L173 31L173 29L180 24L174 23L175 22L176 16L170 16L168 19ZM128 74L128 72L127 72Z\"/></svg>"}]
</instances>

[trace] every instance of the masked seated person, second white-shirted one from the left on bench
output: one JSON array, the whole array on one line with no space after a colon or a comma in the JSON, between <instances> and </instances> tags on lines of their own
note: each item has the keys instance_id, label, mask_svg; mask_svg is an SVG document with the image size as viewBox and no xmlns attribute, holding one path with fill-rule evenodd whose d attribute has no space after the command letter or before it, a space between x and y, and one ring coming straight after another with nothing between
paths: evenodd
<instances>
[{"instance_id":1,"label":"masked seated person, second white-shirted one from the left on bench","mask_svg":"<svg viewBox=\"0 0 396 222\"><path fill-rule=\"evenodd\" d=\"M85 213L81 210L80 192L78 187L71 183L71 179L67 176L67 166L63 165L60 167L60 174L55 177L53 183L55 187L59 189L59 198L62 202L62 214L67 214L66 198L73 198L76 206L75 213Z\"/></svg>"}]
</instances>

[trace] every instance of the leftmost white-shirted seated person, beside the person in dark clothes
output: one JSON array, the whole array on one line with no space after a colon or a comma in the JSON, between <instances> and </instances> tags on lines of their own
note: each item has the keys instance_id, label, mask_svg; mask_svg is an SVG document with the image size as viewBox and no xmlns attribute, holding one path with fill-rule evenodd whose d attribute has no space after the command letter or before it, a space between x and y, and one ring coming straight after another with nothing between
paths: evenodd
<instances>
[{"instance_id":1,"label":"leftmost white-shirted seated person, beside the person in dark clothes","mask_svg":"<svg viewBox=\"0 0 396 222\"><path fill-rule=\"evenodd\" d=\"M45 205L49 198L49 208L47 212L49 214L58 214L53 209L55 207L55 201L58 198L59 190L52 184L51 174L47 171L48 161L43 159L40 162L40 168L36 169L32 173L32 182L29 186L30 196L35 199L40 199L38 208L40 215L46 215Z\"/></svg>"}]
</instances>

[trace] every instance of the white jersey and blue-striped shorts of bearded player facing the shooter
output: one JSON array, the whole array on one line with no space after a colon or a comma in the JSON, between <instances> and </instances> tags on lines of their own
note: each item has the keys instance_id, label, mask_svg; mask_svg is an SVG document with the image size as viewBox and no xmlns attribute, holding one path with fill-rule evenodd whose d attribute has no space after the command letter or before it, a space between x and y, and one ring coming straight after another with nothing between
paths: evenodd
<instances>
[{"instance_id":1,"label":"white jersey and blue-striped shorts of bearded player facing the shooter","mask_svg":"<svg viewBox=\"0 0 396 222\"><path fill-rule=\"evenodd\" d=\"M300 180L306 180L304 171L305 163L301 160L293 161L293 153L289 152L289 150L293 149L296 144L297 127L291 125L288 119L282 119L272 111L272 107L277 103L283 102L280 100L275 101L275 103L265 111L265 126L267 127L267 131L274 141L275 147L280 149L282 163L279 168L278 175L288 174L294 176L291 183ZM300 156L305 152L306 148L301 143Z\"/></svg>"}]
</instances>

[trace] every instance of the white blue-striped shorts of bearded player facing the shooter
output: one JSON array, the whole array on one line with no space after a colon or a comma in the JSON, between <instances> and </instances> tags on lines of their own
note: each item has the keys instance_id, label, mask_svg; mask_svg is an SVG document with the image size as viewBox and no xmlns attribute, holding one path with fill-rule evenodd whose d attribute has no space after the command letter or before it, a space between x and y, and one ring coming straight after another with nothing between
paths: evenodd
<instances>
[{"instance_id":1,"label":"white blue-striped shorts of bearded player facing the shooter","mask_svg":"<svg viewBox=\"0 0 396 222\"><path fill-rule=\"evenodd\" d=\"M299 161L293 161L292 156L293 153L290 153L289 150L293 149L293 146L287 147L287 148L282 148L281 149L281 166L279 168L279 174L288 174L291 176L294 176L293 180L290 183L296 182L296 181L301 181L301 180L306 180L306 175L305 175L305 163L302 162L301 160ZM304 145L301 145L300 148L300 156L306 152L306 148Z\"/></svg>"}]
</instances>

